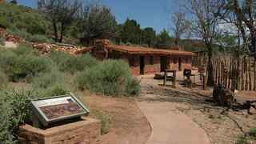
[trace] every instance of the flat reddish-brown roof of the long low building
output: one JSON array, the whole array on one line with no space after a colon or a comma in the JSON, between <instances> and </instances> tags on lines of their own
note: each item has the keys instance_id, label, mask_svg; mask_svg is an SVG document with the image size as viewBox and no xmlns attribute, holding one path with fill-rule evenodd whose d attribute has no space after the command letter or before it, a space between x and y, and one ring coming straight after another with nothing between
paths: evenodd
<instances>
[{"instance_id":1,"label":"flat reddish-brown roof of the long low building","mask_svg":"<svg viewBox=\"0 0 256 144\"><path fill-rule=\"evenodd\" d=\"M108 45L106 46L108 50L116 50L127 54L162 54L162 55L193 55L192 52L181 51L181 50L164 50L164 49L154 49L146 47L135 47L135 46L118 46L118 45Z\"/></svg>"}]
</instances>

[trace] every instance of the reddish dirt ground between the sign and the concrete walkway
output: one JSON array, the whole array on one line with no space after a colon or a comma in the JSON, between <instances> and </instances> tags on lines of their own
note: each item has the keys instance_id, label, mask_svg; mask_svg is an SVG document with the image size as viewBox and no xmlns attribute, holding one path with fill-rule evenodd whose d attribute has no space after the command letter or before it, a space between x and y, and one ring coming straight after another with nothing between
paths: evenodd
<instances>
[{"instance_id":1,"label":"reddish dirt ground between the sign and the concrete walkway","mask_svg":"<svg viewBox=\"0 0 256 144\"><path fill-rule=\"evenodd\" d=\"M87 95L84 102L95 111L110 115L110 131L98 139L100 144L144 144L151 134L150 123L139 109L134 98L111 98ZM88 96L89 95L89 96Z\"/></svg>"}]
</instances>

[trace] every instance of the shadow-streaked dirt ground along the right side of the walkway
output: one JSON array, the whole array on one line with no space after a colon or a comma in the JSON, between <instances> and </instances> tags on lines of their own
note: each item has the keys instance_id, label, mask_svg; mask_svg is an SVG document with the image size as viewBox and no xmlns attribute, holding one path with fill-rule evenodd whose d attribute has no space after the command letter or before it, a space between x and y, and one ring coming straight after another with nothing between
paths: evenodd
<instances>
[{"instance_id":1,"label":"shadow-streaked dirt ground along the right side of the walkway","mask_svg":"<svg viewBox=\"0 0 256 144\"><path fill-rule=\"evenodd\" d=\"M162 81L152 77L143 77L140 81L142 94L138 101L172 102L206 131L211 143L233 144L238 135L256 127L256 110L251 111L252 115L247 114L246 110L226 111L207 101L210 100L212 90L163 87L159 86ZM236 98L239 102L256 100L256 92L239 92ZM256 141L250 143L255 144Z\"/></svg>"}]
</instances>

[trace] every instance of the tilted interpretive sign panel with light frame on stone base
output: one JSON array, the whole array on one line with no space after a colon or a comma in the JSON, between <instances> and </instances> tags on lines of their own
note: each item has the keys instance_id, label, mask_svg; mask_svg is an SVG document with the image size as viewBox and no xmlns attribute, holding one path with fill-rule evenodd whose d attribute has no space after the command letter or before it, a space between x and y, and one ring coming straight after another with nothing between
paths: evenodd
<instances>
[{"instance_id":1,"label":"tilted interpretive sign panel with light frame on stone base","mask_svg":"<svg viewBox=\"0 0 256 144\"><path fill-rule=\"evenodd\" d=\"M48 126L51 122L81 117L90 112L74 94L32 101L32 106L34 114L43 126Z\"/></svg>"}]
</instances>

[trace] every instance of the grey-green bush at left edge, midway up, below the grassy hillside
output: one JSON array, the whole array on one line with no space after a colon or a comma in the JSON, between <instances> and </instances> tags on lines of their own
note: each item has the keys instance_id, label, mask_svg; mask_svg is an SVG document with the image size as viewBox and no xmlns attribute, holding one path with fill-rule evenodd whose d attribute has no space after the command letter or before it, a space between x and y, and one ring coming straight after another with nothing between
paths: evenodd
<instances>
[{"instance_id":1,"label":"grey-green bush at left edge, midway up, below the grassy hillside","mask_svg":"<svg viewBox=\"0 0 256 144\"><path fill-rule=\"evenodd\" d=\"M49 59L30 53L26 48L0 53L0 66L14 82L50 71L52 64Z\"/></svg>"}]
</instances>

